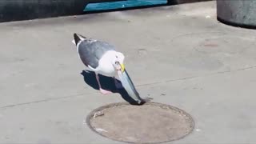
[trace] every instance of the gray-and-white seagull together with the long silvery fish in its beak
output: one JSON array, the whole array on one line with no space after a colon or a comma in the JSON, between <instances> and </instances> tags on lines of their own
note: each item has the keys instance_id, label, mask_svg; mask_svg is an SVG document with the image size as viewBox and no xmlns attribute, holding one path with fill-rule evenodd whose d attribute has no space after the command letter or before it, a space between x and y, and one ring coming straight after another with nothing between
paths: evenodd
<instances>
[{"instance_id":1,"label":"gray-and-white seagull together with the long silvery fish in its beak","mask_svg":"<svg viewBox=\"0 0 256 144\"><path fill-rule=\"evenodd\" d=\"M82 63L94 71L99 90L102 94L110 94L111 91L102 89L98 74L114 78L115 86L118 89L124 88L138 104L145 102L144 99L140 98L125 69L123 64L125 56L121 52L116 51L114 46L108 42L86 38L81 34L74 34L72 42L77 46L78 55ZM119 78L122 84L118 83L116 78Z\"/></svg>"}]
</instances>

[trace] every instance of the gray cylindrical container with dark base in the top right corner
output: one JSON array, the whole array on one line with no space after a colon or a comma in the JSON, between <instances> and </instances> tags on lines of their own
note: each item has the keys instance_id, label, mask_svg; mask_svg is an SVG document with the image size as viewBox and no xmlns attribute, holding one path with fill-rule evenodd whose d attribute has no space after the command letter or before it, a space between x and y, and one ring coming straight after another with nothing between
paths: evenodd
<instances>
[{"instance_id":1,"label":"gray cylindrical container with dark base in the top right corner","mask_svg":"<svg viewBox=\"0 0 256 144\"><path fill-rule=\"evenodd\" d=\"M217 0L218 21L231 26L256 28L256 0Z\"/></svg>"}]
</instances>

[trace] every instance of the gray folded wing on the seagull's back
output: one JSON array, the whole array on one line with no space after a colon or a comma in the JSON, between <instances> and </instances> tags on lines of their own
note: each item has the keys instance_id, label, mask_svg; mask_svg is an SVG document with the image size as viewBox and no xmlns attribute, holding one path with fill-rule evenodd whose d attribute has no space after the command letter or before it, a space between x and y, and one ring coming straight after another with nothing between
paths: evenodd
<instances>
[{"instance_id":1,"label":"gray folded wing on the seagull's back","mask_svg":"<svg viewBox=\"0 0 256 144\"><path fill-rule=\"evenodd\" d=\"M111 46L107 42L97 41L90 38L86 38L78 46L78 54L82 62L86 66L90 65L94 69L98 67L98 61L102 58L102 55L109 50L114 50L114 46Z\"/></svg>"}]
</instances>

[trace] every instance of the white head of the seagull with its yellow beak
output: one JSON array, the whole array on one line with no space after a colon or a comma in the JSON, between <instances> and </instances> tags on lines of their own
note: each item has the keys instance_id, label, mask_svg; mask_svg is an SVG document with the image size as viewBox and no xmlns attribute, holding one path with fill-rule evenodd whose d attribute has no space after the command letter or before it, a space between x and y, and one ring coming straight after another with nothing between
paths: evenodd
<instances>
[{"instance_id":1,"label":"white head of the seagull with its yellow beak","mask_svg":"<svg viewBox=\"0 0 256 144\"><path fill-rule=\"evenodd\" d=\"M125 70L125 66L123 65L123 61L125 59L125 56L120 53L120 52L116 52L113 54L113 65L114 65L114 68L115 70L121 70L122 72Z\"/></svg>"}]
</instances>

